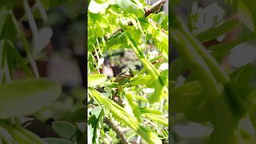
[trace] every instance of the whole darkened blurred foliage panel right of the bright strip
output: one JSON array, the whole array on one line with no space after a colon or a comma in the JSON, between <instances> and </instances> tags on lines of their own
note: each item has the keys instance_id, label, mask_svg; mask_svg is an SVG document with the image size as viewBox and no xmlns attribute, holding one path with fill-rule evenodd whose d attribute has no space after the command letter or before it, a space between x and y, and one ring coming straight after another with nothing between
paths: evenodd
<instances>
[{"instance_id":1,"label":"whole darkened blurred foliage panel right of the bright strip","mask_svg":"<svg viewBox=\"0 0 256 144\"><path fill-rule=\"evenodd\" d=\"M253 6L246 0L170 1L174 143L255 143Z\"/></svg>"}]
</instances>

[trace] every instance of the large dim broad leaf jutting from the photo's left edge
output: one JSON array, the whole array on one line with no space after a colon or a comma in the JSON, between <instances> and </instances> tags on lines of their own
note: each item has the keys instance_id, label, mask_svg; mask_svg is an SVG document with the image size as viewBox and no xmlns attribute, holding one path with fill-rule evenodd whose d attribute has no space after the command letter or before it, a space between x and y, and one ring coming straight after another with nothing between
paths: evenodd
<instances>
[{"instance_id":1,"label":"large dim broad leaf jutting from the photo's left edge","mask_svg":"<svg viewBox=\"0 0 256 144\"><path fill-rule=\"evenodd\" d=\"M61 94L57 82L45 78L18 80L0 86L0 118L33 114Z\"/></svg>"}]
</instances>

